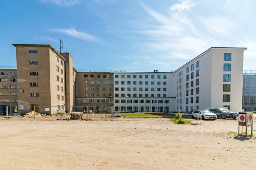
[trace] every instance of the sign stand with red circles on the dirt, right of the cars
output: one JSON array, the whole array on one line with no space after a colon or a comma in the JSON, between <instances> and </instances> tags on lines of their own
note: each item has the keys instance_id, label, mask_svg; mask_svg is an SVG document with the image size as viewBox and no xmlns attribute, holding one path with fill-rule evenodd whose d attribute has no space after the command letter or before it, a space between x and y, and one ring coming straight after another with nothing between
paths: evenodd
<instances>
[{"instance_id":1,"label":"sign stand with red circles on the dirt, right of the cars","mask_svg":"<svg viewBox=\"0 0 256 170\"><path fill-rule=\"evenodd\" d=\"M240 133L240 126L245 126L245 135ZM247 135L247 127L251 127L251 134ZM239 112L238 136L252 137L253 136L253 113Z\"/></svg>"}]
</instances>

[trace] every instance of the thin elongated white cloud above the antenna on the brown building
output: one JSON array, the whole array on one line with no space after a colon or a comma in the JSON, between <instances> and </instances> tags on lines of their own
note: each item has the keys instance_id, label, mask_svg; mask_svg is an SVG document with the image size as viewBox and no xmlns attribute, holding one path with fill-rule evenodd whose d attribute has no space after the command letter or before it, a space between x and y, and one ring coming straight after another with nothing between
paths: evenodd
<instances>
[{"instance_id":1,"label":"thin elongated white cloud above the antenna on the brown building","mask_svg":"<svg viewBox=\"0 0 256 170\"><path fill-rule=\"evenodd\" d=\"M81 40L96 41L96 42L101 41L98 37L95 37L94 35L88 34L86 32L77 31L75 28L62 28L62 29L54 28L54 29L50 29L49 31L67 34L69 36L76 37Z\"/></svg>"}]
</instances>

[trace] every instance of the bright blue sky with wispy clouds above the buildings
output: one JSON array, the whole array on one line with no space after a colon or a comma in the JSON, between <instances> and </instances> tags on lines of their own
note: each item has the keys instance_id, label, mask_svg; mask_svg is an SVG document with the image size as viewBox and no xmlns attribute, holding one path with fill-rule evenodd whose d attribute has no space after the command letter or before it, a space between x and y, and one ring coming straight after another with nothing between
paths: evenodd
<instances>
[{"instance_id":1,"label":"bright blue sky with wispy clouds above the buildings","mask_svg":"<svg viewBox=\"0 0 256 170\"><path fill-rule=\"evenodd\" d=\"M0 66L12 43L51 44L77 69L169 72L208 48L247 47L256 70L255 0L1 0Z\"/></svg>"}]
</instances>

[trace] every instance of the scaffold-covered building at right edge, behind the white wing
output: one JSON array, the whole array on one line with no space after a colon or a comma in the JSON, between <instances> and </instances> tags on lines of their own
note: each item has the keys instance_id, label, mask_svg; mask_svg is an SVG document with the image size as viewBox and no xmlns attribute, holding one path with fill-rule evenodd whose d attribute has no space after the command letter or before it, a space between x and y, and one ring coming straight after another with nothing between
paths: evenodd
<instances>
[{"instance_id":1,"label":"scaffold-covered building at right edge, behind the white wing","mask_svg":"<svg viewBox=\"0 0 256 170\"><path fill-rule=\"evenodd\" d=\"M245 70L243 74L243 109L256 111L256 70Z\"/></svg>"}]
</instances>

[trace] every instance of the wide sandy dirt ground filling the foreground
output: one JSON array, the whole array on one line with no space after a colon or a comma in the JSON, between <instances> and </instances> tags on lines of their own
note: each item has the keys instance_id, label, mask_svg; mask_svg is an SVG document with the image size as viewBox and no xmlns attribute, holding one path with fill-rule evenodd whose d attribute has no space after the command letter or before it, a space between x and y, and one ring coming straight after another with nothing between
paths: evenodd
<instances>
[{"instance_id":1,"label":"wide sandy dirt ground filling the foreground","mask_svg":"<svg viewBox=\"0 0 256 170\"><path fill-rule=\"evenodd\" d=\"M0 120L0 169L255 170L256 138L237 129L237 119Z\"/></svg>"}]
</instances>

